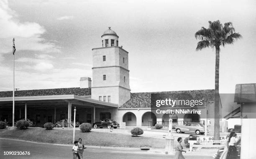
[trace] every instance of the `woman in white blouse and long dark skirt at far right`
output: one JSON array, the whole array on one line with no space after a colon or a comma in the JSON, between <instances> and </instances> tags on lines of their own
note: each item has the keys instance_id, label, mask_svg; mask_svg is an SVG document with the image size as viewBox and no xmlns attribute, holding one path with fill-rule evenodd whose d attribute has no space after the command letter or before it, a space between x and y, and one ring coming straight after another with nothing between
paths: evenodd
<instances>
[{"instance_id":1,"label":"woman in white blouse and long dark skirt at far right","mask_svg":"<svg viewBox=\"0 0 256 159\"><path fill-rule=\"evenodd\" d=\"M231 132L228 138L228 155L227 159L237 159L238 153L236 150L236 142L237 142L237 134L235 132Z\"/></svg>"}]
</instances>

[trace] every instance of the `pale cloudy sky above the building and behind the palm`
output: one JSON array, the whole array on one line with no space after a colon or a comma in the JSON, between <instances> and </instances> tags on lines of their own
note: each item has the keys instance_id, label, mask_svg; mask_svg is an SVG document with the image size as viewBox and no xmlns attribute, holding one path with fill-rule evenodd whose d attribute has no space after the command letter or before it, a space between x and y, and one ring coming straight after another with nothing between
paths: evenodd
<instances>
[{"instance_id":1,"label":"pale cloudy sky above the building and behind the palm","mask_svg":"<svg viewBox=\"0 0 256 159\"><path fill-rule=\"evenodd\" d=\"M13 38L15 88L79 87L109 26L129 52L131 92L214 89L215 50L195 50L209 20L243 36L220 48L220 93L256 83L254 0L0 0L0 91L13 90Z\"/></svg>"}]
</instances>

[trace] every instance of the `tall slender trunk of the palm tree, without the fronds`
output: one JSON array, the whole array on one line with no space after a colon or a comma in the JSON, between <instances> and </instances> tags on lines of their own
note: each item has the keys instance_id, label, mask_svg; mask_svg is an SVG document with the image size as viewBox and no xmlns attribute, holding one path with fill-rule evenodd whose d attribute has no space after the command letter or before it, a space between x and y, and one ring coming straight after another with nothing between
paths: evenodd
<instances>
[{"instance_id":1,"label":"tall slender trunk of the palm tree, without the fronds","mask_svg":"<svg viewBox=\"0 0 256 159\"><path fill-rule=\"evenodd\" d=\"M219 68L220 68L220 46L215 46L215 91L214 91L214 140L220 140L220 95L219 95Z\"/></svg>"}]
</instances>

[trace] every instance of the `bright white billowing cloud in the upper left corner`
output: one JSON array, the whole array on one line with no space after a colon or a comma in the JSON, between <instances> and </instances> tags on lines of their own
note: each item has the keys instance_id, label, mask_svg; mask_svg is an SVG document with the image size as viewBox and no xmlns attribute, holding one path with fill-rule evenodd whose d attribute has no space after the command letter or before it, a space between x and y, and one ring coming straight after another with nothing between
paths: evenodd
<instances>
[{"instance_id":1,"label":"bright white billowing cloud in the upper left corner","mask_svg":"<svg viewBox=\"0 0 256 159\"><path fill-rule=\"evenodd\" d=\"M51 42L41 38L46 30L38 23L19 22L18 15L8 6L7 0L0 1L0 56L11 52L12 40L15 38L16 52L20 50L60 52ZM1 55L2 54L2 55ZM3 60L3 58L2 58Z\"/></svg>"}]
</instances>

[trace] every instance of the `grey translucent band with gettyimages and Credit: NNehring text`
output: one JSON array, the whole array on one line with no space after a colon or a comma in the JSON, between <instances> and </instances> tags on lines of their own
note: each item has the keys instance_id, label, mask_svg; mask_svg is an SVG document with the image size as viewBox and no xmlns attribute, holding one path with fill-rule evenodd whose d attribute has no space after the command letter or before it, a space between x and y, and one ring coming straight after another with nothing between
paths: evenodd
<instances>
[{"instance_id":1,"label":"grey translucent band with gettyimages and Credit: NNehring text","mask_svg":"<svg viewBox=\"0 0 256 159\"><path fill-rule=\"evenodd\" d=\"M216 111L214 93L151 93L151 116L166 120L171 114L176 119L190 121L256 119L255 94L220 93L218 100L219 111Z\"/></svg>"}]
</instances>

